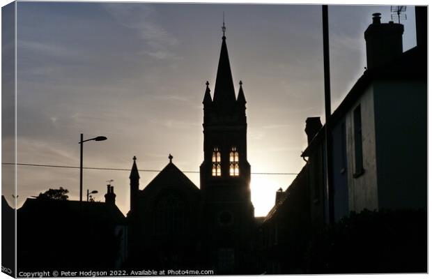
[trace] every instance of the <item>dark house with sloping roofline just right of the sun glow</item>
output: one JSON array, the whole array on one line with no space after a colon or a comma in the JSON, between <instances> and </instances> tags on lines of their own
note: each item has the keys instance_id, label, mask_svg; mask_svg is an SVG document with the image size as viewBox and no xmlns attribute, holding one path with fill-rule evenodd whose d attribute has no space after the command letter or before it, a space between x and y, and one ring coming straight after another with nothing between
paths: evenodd
<instances>
[{"instance_id":1,"label":"dark house with sloping roofline just right of the sun glow","mask_svg":"<svg viewBox=\"0 0 432 279\"><path fill-rule=\"evenodd\" d=\"M311 233L308 171L304 166L291 186L277 191L275 206L259 227L261 273L304 273L302 255Z\"/></svg>"}]
</instances>

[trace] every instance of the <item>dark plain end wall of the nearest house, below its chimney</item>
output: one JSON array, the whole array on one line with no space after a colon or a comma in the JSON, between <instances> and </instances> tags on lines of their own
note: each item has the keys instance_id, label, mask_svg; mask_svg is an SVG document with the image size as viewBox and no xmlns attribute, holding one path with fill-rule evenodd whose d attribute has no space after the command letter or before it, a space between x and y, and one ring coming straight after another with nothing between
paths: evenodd
<instances>
[{"instance_id":1,"label":"dark plain end wall of the nearest house, below its chimney","mask_svg":"<svg viewBox=\"0 0 432 279\"><path fill-rule=\"evenodd\" d=\"M426 80L373 84L376 118L378 206L427 206Z\"/></svg>"}]
</instances>

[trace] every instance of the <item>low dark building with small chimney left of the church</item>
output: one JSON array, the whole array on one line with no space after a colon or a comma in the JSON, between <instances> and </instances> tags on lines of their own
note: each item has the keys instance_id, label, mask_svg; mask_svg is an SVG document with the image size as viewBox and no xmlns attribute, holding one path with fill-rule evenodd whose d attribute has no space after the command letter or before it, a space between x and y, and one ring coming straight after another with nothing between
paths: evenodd
<instances>
[{"instance_id":1,"label":"low dark building with small chimney left of the church","mask_svg":"<svg viewBox=\"0 0 432 279\"><path fill-rule=\"evenodd\" d=\"M102 271L122 266L125 216L112 198L113 186L107 188L105 202L26 199L17 210L17 269Z\"/></svg>"}]
</instances>

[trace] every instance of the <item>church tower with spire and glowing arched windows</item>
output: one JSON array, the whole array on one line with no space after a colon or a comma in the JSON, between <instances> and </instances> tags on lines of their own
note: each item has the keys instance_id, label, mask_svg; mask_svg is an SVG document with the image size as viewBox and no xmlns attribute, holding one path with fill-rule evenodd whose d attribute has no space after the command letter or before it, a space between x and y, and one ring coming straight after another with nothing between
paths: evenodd
<instances>
[{"instance_id":1,"label":"church tower with spire and glowing arched windows","mask_svg":"<svg viewBox=\"0 0 432 279\"><path fill-rule=\"evenodd\" d=\"M231 75L225 24L213 99L209 83L203 98L204 160L200 167L204 236L209 262L219 273L247 273L252 249L254 206L247 162L246 99ZM249 266L250 267L250 266Z\"/></svg>"}]
</instances>

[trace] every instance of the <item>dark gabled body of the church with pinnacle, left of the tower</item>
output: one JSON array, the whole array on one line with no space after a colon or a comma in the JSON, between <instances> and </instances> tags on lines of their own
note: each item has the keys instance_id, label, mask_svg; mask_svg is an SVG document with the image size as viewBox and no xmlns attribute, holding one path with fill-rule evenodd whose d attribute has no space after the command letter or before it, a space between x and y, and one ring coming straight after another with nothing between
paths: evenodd
<instances>
[{"instance_id":1,"label":"dark gabled body of the church with pinnacle, left of the tower","mask_svg":"<svg viewBox=\"0 0 432 279\"><path fill-rule=\"evenodd\" d=\"M131 267L193 269L199 259L199 188L170 158L169 164L139 190L134 157L128 213Z\"/></svg>"}]
</instances>

